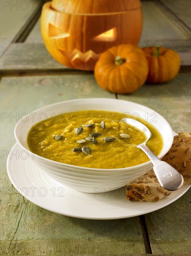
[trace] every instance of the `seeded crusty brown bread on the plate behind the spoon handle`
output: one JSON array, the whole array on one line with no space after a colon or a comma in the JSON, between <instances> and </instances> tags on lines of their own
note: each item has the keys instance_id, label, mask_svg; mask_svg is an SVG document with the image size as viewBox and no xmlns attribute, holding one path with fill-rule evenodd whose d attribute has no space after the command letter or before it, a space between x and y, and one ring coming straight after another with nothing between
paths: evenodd
<instances>
[{"instance_id":1,"label":"seeded crusty brown bread on the plate behind the spoon handle","mask_svg":"<svg viewBox=\"0 0 191 256\"><path fill-rule=\"evenodd\" d=\"M184 181L191 183L191 133L181 132L174 137L169 152L162 158L180 172ZM127 200L157 202L172 192L164 189L151 170L139 179L127 184Z\"/></svg>"}]
</instances>

